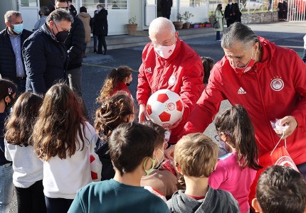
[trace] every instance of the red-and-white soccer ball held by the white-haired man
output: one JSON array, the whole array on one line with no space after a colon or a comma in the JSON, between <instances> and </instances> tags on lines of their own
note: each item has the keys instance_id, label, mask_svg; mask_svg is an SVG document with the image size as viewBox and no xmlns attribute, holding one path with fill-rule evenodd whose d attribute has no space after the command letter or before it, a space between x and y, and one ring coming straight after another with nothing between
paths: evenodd
<instances>
[{"instance_id":1,"label":"red-and-white soccer ball held by the white-haired man","mask_svg":"<svg viewBox=\"0 0 306 213\"><path fill-rule=\"evenodd\" d=\"M147 102L147 114L155 124L172 126L181 119L184 104L179 94L169 89L160 89L152 94Z\"/></svg>"}]
</instances>

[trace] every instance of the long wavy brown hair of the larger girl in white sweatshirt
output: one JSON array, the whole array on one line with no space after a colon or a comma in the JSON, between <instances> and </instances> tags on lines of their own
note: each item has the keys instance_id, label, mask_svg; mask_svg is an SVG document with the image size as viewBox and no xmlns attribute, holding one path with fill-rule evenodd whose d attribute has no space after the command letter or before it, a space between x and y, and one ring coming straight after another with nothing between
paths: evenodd
<instances>
[{"instance_id":1,"label":"long wavy brown hair of the larger girl in white sweatshirt","mask_svg":"<svg viewBox=\"0 0 306 213\"><path fill-rule=\"evenodd\" d=\"M77 144L78 150L83 150L82 131L85 133L85 118L79 99L68 85L53 85L43 99L33 129L33 148L38 158L48 161L56 155L60 159L71 157L77 151Z\"/></svg>"}]
</instances>

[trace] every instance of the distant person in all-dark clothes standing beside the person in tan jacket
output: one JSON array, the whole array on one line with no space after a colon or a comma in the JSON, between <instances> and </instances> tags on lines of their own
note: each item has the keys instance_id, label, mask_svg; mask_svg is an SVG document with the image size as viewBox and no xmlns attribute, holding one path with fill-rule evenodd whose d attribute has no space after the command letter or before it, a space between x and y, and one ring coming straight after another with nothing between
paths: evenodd
<instances>
[{"instance_id":1,"label":"distant person in all-dark clothes standing beside the person in tan jacket","mask_svg":"<svg viewBox=\"0 0 306 213\"><path fill-rule=\"evenodd\" d=\"M108 33L107 24L107 10L105 10L102 4L97 4L97 13L94 16L93 23L93 35L97 36L97 54L102 54L102 45L104 48L104 55L107 52L107 45L105 42L105 36Z\"/></svg>"}]
</instances>

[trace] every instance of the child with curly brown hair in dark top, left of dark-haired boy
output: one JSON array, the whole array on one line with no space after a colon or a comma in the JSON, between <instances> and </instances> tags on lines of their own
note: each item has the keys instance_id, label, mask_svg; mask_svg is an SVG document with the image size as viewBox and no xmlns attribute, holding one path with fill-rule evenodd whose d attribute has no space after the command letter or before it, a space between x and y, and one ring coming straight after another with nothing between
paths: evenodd
<instances>
[{"instance_id":1,"label":"child with curly brown hair in dark top, left of dark-haired boy","mask_svg":"<svg viewBox=\"0 0 306 213\"><path fill-rule=\"evenodd\" d=\"M95 112L95 131L100 138L96 143L95 153L102 163L101 180L110 180L115 175L108 147L110 134L120 124L133 120L134 102L126 92L117 92L105 99Z\"/></svg>"}]
</instances>

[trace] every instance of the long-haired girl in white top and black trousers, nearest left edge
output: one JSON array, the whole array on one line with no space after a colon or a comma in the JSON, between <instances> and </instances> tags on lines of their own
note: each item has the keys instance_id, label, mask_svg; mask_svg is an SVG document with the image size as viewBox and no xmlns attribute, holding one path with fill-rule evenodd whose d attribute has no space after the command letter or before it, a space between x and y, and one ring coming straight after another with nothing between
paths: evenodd
<instances>
[{"instance_id":1,"label":"long-haired girl in white top and black trousers, nearest left edge","mask_svg":"<svg viewBox=\"0 0 306 213\"><path fill-rule=\"evenodd\" d=\"M43 162L33 152L31 139L42 102L43 98L37 94L21 94L5 126L5 155L13 161L18 212L46 212Z\"/></svg>"}]
</instances>

